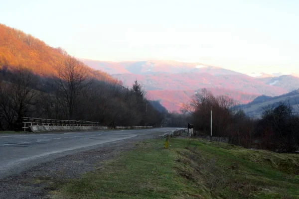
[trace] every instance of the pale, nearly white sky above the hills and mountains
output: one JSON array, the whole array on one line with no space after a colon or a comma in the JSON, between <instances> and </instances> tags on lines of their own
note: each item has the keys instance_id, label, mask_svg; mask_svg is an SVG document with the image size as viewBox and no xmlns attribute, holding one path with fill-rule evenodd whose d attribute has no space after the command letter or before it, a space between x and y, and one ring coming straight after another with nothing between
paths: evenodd
<instances>
[{"instance_id":1,"label":"pale, nearly white sky above the hills and mountains","mask_svg":"<svg viewBox=\"0 0 299 199\"><path fill-rule=\"evenodd\" d=\"M299 73L299 0L0 0L0 23L101 61Z\"/></svg>"}]
</instances>

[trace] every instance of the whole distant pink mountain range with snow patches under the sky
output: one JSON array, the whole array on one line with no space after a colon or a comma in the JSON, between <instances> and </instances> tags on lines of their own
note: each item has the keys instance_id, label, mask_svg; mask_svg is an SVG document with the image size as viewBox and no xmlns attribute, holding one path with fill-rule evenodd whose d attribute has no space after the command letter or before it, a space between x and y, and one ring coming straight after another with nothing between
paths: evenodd
<instances>
[{"instance_id":1,"label":"whole distant pink mountain range with snow patches under the sky","mask_svg":"<svg viewBox=\"0 0 299 199\"><path fill-rule=\"evenodd\" d=\"M103 70L131 87L135 80L142 83L150 100L160 100L169 111L179 111L199 89L207 88L214 95L226 95L239 103L248 103L258 96L279 96L295 88L297 80L281 78L280 84L271 84L275 75L264 78L248 75L202 63L184 63L169 60L106 62L82 60L94 69ZM265 78L267 77L267 78ZM275 79L273 79L275 80ZM293 89L294 90L294 89Z\"/></svg>"}]
</instances>

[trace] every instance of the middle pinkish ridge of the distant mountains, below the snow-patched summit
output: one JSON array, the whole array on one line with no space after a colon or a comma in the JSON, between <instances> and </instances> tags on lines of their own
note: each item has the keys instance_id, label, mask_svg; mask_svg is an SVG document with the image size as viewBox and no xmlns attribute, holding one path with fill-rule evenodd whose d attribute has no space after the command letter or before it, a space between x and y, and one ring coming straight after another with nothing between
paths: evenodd
<instances>
[{"instance_id":1,"label":"middle pinkish ridge of the distant mountains, below the snow-patched summit","mask_svg":"<svg viewBox=\"0 0 299 199\"><path fill-rule=\"evenodd\" d=\"M160 73L149 75L113 75L127 86L142 82L146 90L198 90L203 88L224 88L259 95L278 96L288 93L283 88L273 87L246 75L221 75L209 73Z\"/></svg>"}]
</instances>

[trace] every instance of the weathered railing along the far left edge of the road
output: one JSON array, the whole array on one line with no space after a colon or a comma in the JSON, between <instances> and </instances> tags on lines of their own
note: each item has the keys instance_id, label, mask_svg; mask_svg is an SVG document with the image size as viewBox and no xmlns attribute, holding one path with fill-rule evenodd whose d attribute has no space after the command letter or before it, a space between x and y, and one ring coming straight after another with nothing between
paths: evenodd
<instances>
[{"instance_id":1,"label":"weathered railing along the far left edge of the road","mask_svg":"<svg viewBox=\"0 0 299 199\"><path fill-rule=\"evenodd\" d=\"M59 120L59 119L43 119L33 117L22 117L24 131L29 129L29 126L100 126L99 122L93 121L76 121L76 120Z\"/></svg>"}]
</instances>

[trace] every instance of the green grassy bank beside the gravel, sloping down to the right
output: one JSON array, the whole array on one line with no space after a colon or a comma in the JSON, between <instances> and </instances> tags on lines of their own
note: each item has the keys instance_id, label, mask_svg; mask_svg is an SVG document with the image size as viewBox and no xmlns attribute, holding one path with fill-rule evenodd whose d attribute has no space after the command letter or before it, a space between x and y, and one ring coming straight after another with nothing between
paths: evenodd
<instances>
[{"instance_id":1,"label":"green grassy bank beside the gravel, sloping down to the right","mask_svg":"<svg viewBox=\"0 0 299 199\"><path fill-rule=\"evenodd\" d=\"M299 198L299 155L174 138L149 140L56 185L54 199Z\"/></svg>"}]
</instances>

